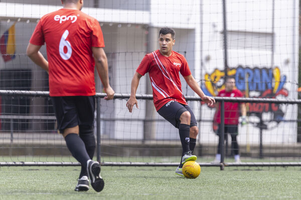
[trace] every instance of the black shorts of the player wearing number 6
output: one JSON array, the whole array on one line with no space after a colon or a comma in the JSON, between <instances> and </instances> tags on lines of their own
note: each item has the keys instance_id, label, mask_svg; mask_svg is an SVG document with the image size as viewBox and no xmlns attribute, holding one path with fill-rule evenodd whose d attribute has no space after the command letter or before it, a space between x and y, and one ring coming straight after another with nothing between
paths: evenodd
<instances>
[{"instance_id":1,"label":"black shorts of the player wearing number 6","mask_svg":"<svg viewBox=\"0 0 301 200\"><path fill-rule=\"evenodd\" d=\"M61 133L76 125L93 127L95 95L52 96L51 99Z\"/></svg>"}]
</instances>

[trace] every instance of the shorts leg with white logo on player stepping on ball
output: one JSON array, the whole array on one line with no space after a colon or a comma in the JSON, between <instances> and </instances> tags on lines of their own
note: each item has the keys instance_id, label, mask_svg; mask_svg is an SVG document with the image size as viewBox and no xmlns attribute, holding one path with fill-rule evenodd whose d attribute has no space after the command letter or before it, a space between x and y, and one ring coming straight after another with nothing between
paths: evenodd
<instances>
[{"instance_id":1,"label":"shorts leg with white logo on player stepping on ball","mask_svg":"<svg viewBox=\"0 0 301 200\"><path fill-rule=\"evenodd\" d=\"M180 125L180 116L183 112L188 111L184 105L178 103L175 100L171 100L165 105L163 105L158 113L163 116L166 120L168 120L175 127L179 127Z\"/></svg>"}]
</instances>

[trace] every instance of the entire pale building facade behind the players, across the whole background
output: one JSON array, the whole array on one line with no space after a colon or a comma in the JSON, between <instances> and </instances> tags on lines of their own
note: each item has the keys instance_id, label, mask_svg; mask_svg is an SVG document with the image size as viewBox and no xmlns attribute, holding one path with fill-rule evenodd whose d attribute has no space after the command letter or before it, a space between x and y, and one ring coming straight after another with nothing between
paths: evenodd
<instances>
[{"instance_id":1,"label":"entire pale building facade behind the players, across the whole background","mask_svg":"<svg viewBox=\"0 0 301 200\"><path fill-rule=\"evenodd\" d=\"M0 58L1 68L31 68L35 71L41 70L35 66L26 56L26 46L31 33L36 24L36 20L42 15L61 8L60 4L44 2L41 0L23 4L24 0L7 0L0 2L0 33L10 27L13 20L21 19L16 25L17 53L19 58L4 63ZM107 2L107 1L105 1ZM131 1L133 2L133 1ZM144 1L143 1L144 2ZM274 29L272 26L272 3L274 2ZM205 73L212 73L214 69L223 70L223 15L221 0L149 0L149 6L142 6L137 10L116 9L114 6L102 5L105 8L94 8L93 0L85 0L85 7L82 11L94 16L100 21L104 32L106 43L105 51L108 56L110 66L110 81L117 93L130 92L130 80L135 68L140 63L146 53L146 27L173 27L176 30L176 44L174 50L186 54L188 63L195 78L200 81L204 79ZM52 4L52 5L49 5ZM131 6L132 7L132 6ZM140 6L141 7L141 6ZM248 33L267 33L274 31L274 58L273 66L277 66L281 76L286 76L284 88L288 92L286 98L297 97L297 76L298 76L298 1L297 0L231 0L227 1L227 29L229 31L240 31ZM148 9L149 8L149 9ZM8 19L11 22L7 22ZM27 23L29 20L29 23ZM21 33L20 33L21 32ZM232 37L233 38L233 37ZM232 40L228 49L229 67L254 66L258 68L271 67L272 51L268 50L269 43L258 42L258 38L252 37L253 43L259 43L256 48L236 48L239 40ZM266 40L267 41L267 40ZM234 47L233 47L234 46ZM154 49L155 50L155 49ZM186 51L186 53L185 53ZM42 48L45 53L45 47ZM137 93L145 92L146 78L141 78ZM35 81L38 80L35 77ZM101 92L99 78L97 78L98 90ZM183 82L183 78L182 78ZM38 83L37 83L38 84ZM274 85L274 83L273 83ZM37 86L36 88L39 88ZM183 82L185 94L195 95L191 89L186 90ZM256 92L250 92L250 95ZM283 97L283 96L278 96ZM102 117L113 118L138 118L145 115L143 109L145 101L139 100L140 108L129 113L125 109L126 100L114 100L112 102L102 100L101 103L107 106L103 110ZM212 120L214 110L206 105L200 106L199 102L191 103L197 119ZM201 107L201 110L200 110ZM296 119L297 111L295 106L286 106L284 119ZM161 118L157 114L158 118ZM263 115L265 119L270 119L270 114ZM250 117L250 120L252 117ZM253 117L256 120L256 117ZM142 122L131 122L131 126L126 121L116 120L114 122L104 121L103 134L113 138L142 138ZM263 141L271 142L295 142L296 124L271 122L270 129L264 130ZM157 138L178 138L177 129L167 122L158 122ZM274 128L272 128L274 127ZM288 130L288 131L287 131ZM258 143L259 129L253 125L243 127L240 134L240 142L249 141ZM277 132L275 136L275 132ZM283 132L288 132L283 134ZM212 132L211 122L201 122L200 137L201 142L217 142L217 137Z\"/></svg>"}]
</instances>

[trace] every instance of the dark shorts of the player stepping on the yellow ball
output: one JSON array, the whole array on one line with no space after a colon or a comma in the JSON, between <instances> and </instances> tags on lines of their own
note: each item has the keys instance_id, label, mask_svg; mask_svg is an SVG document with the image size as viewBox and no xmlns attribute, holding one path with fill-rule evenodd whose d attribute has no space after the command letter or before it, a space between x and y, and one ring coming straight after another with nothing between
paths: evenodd
<instances>
[{"instance_id":1,"label":"dark shorts of the player stepping on the yellow ball","mask_svg":"<svg viewBox=\"0 0 301 200\"><path fill-rule=\"evenodd\" d=\"M197 120L188 105L184 105L178 103L175 100L171 100L165 105L163 105L159 110L158 113L163 116L166 120L168 120L171 124L173 124L176 128L179 128L180 125L180 116L183 112L189 111L190 112L190 127L197 126Z\"/></svg>"}]
</instances>

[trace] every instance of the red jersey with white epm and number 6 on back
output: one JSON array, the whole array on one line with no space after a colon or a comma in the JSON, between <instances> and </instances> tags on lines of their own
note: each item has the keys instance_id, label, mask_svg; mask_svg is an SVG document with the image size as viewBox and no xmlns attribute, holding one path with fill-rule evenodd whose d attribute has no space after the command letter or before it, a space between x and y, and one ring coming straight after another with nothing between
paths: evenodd
<instances>
[{"instance_id":1,"label":"red jersey with white epm and number 6 on back","mask_svg":"<svg viewBox=\"0 0 301 200\"><path fill-rule=\"evenodd\" d=\"M30 43L46 42L51 96L94 95L92 46L104 47L98 21L76 9L62 8L44 15Z\"/></svg>"}]
</instances>

